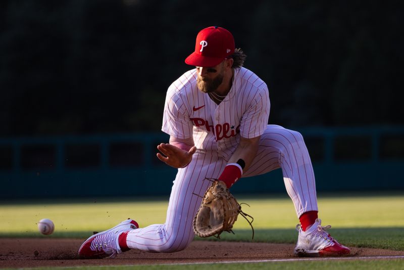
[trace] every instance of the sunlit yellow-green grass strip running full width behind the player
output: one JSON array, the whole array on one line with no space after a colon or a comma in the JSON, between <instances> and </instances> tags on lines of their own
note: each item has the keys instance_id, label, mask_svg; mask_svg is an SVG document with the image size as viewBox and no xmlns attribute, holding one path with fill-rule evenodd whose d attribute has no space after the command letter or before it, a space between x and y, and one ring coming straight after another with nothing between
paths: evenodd
<instances>
[{"instance_id":1,"label":"sunlit yellow-green grass strip running full width behind the player","mask_svg":"<svg viewBox=\"0 0 404 270\"><path fill-rule=\"evenodd\" d=\"M298 223L293 205L288 198L241 198L244 212L254 216L256 229L293 229ZM166 218L167 201L107 201L92 200L47 201L0 204L0 232L36 233L36 222L50 218L58 234L92 232L115 226L131 217L141 227L162 223ZM320 197L319 217L323 226L334 228L393 228L404 227L404 196ZM248 223L239 218L234 230L248 229Z\"/></svg>"}]
</instances>

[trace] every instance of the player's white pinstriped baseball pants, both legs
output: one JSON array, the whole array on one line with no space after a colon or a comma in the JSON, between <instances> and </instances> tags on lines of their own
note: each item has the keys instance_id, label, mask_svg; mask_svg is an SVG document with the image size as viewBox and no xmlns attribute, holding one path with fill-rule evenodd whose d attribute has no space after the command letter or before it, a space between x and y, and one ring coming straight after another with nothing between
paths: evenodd
<instances>
[{"instance_id":1,"label":"player's white pinstriped baseball pants, both legs","mask_svg":"<svg viewBox=\"0 0 404 270\"><path fill-rule=\"evenodd\" d=\"M217 152L196 152L188 166L178 169L166 222L131 231L127 235L128 247L151 252L175 252L187 247L194 238L193 217L202 200L193 193L203 196L211 185L205 178L218 178L226 165L227 161ZM257 157L243 177L279 167L297 216L318 210L313 167L301 134L278 125L268 125L261 136Z\"/></svg>"}]
</instances>

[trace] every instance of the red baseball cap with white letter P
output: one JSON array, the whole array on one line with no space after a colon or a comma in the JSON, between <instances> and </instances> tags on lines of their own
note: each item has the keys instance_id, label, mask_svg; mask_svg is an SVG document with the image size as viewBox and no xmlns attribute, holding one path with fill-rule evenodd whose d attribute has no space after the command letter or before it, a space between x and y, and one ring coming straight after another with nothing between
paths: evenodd
<instances>
[{"instance_id":1,"label":"red baseball cap with white letter P","mask_svg":"<svg viewBox=\"0 0 404 270\"><path fill-rule=\"evenodd\" d=\"M185 63L197 67L214 67L234 54L234 37L226 29L211 26L200 30L196 36L195 51Z\"/></svg>"}]
</instances>

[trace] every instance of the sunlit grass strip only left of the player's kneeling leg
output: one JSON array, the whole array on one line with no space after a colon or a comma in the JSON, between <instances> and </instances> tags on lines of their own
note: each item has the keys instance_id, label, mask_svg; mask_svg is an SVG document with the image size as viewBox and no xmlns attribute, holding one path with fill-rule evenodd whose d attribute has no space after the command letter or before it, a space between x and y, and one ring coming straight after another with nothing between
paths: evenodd
<instances>
[{"instance_id":1,"label":"sunlit grass strip only left of the player's kneeling leg","mask_svg":"<svg viewBox=\"0 0 404 270\"><path fill-rule=\"evenodd\" d=\"M43 202L0 206L0 232L36 233L37 222L52 219L55 233L92 232L114 227L131 217L142 226L164 222L167 202Z\"/></svg>"}]
</instances>

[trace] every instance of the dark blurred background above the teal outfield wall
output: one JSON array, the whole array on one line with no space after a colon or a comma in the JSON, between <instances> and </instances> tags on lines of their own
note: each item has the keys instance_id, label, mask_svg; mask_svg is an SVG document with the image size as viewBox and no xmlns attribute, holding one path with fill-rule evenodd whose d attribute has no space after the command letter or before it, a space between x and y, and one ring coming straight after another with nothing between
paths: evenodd
<instances>
[{"instance_id":1,"label":"dark blurred background above the teal outfield wall","mask_svg":"<svg viewBox=\"0 0 404 270\"><path fill-rule=\"evenodd\" d=\"M229 29L270 123L403 124L399 1L0 2L0 136L158 131L197 32Z\"/></svg>"}]
</instances>

